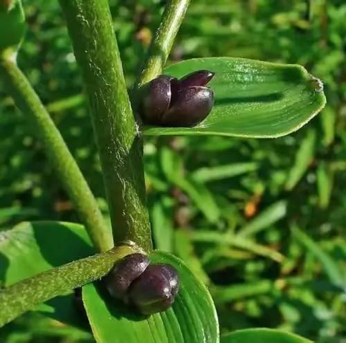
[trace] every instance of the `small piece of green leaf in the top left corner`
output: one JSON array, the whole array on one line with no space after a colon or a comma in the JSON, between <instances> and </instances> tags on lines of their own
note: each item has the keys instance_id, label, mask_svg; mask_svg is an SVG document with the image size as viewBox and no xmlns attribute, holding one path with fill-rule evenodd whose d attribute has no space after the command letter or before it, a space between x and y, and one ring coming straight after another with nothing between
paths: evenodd
<instances>
[{"instance_id":1,"label":"small piece of green leaf in the top left corner","mask_svg":"<svg viewBox=\"0 0 346 343\"><path fill-rule=\"evenodd\" d=\"M0 51L18 46L24 37L26 22L20 0L0 0Z\"/></svg>"}]
</instances>

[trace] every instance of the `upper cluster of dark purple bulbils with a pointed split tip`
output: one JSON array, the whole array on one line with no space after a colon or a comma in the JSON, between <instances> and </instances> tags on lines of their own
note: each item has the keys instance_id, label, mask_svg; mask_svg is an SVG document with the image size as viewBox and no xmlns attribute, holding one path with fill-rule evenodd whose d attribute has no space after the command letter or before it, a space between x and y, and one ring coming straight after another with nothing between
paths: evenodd
<instances>
[{"instance_id":1,"label":"upper cluster of dark purple bulbils with a pointed split tip","mask_svg":"<svg viewBox=\"0 0 346 343\"><path fill-rule=\"evenodd\" d=\"M206 84L215 73L194 71L180 80L160 75L149 82L141 107L146 124L193 127L204 120L214 104L214 93Z\"/></svg>"}]
</instances>

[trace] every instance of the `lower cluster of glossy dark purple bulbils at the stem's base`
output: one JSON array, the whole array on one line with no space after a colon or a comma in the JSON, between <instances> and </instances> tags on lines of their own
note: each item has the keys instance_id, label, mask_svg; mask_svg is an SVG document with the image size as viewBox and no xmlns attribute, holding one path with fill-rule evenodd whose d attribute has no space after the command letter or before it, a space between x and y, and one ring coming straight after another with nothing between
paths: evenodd
<instances>
[{"instance_id":1,"label":"lower cluster of glossy dark purple bulbils at the stem's base","mask_svg":"<svg viewBox=\"0 0 346 343\"><path fill-rule=\"evenodd\" d=\"M145 254L129 254L109 272L106 286L112 297L151 315L173 304L179 278L170 265L149 265Z\"/></svg>"}]
</instances>

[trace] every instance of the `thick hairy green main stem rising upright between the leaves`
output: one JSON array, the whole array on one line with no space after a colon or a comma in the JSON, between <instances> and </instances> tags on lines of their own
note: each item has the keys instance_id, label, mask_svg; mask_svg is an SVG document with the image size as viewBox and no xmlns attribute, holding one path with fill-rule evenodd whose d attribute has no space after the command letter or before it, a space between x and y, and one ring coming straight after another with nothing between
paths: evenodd
<instances>
[{"instance_id":1,"label":"thick hairy green main stem rising upright between the leaves","mask_svg":"<svg viewBox=\"0 0 346 343\"><path fill-rule=\"evenodd\" d=\"M60 0L91 106L116 244L152 249L143 147L125 86L107 0Z\"/></svg>"}]
</instances>

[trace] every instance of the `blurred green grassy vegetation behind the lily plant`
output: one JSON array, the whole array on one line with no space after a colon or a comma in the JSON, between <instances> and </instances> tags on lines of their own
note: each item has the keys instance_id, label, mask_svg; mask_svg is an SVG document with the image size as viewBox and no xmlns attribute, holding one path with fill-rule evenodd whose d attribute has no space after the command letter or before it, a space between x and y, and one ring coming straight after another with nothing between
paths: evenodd
<instances>
[{"instance_id":1,"label":"blurred green grassy vegetation behind the lily plant","mask_svg":"<svg viewBox=\"0 0 346 343\"><path fill-rule=\"evenodd\" d=\"M131 87L165 1L110 3ZM24 0L24 8L29 28L19 66L107 216L82 80L60 8L46 0ZM190 5L170 62L235 56L302 64L324 82L327 95L320 115L275 140L145 139L156 248L174 252L210 286L221 332L267 326L319 343L346 342L345 51L344 0ZM23 220L78 221L25 113L14 108L3 88L0 113L1 230ZM0 331L0 342L93 339L28 313Z\"/></svg>"}]
</instances>

